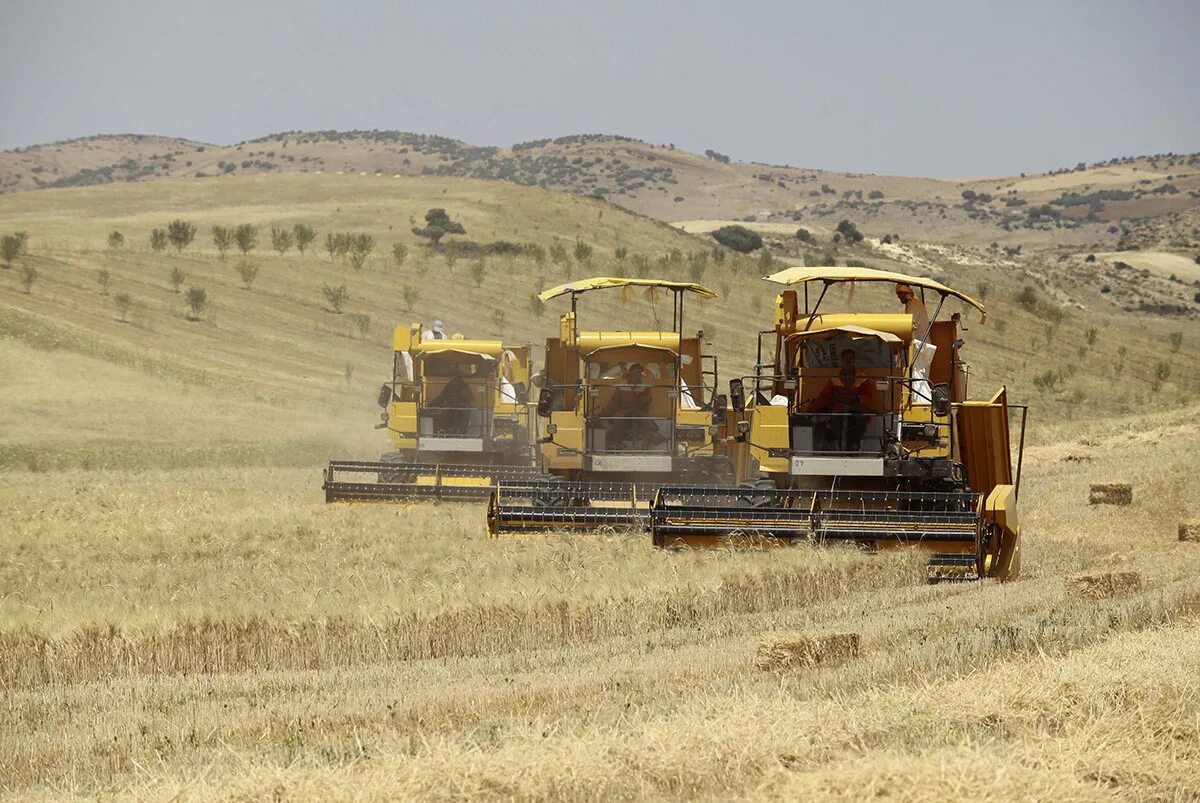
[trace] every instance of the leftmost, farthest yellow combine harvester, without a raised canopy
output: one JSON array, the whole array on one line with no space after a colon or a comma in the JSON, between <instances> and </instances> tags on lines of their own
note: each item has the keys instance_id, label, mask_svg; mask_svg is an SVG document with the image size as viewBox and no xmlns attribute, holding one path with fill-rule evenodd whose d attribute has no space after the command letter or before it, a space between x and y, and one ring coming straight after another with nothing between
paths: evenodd
<instances>
[{"instance_id":1,"label":"leftmost, farthest yellow combine harvester, without a raised canopy","mask_svg":"<svg viewBox=\"0 0 1200 803\"><path fill-rule=\"evenodd\" d=\"M532 480L529 347L421 338L396 326L392 377L379 390L396 447L379 462L332 461L325 501L486 499L502 479Z\"/></svg>"}]
</instances>

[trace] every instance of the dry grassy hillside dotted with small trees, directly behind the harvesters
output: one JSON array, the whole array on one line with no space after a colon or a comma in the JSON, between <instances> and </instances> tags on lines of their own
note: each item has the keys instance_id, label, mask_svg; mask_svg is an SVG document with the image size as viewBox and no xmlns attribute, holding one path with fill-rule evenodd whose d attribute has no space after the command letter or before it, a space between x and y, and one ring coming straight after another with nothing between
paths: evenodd
<instances>
[{"instance_id":1,"label":"dry grassy hillside dotted with small trees, directly behind the harvesters","mask_svg":"<svg viewBox=\"0 0 1200 803\"><path fill-rule=\"evenodd\" d=\"M463 222L466 238L533 242L541 254L450 260L431 252L410 229L434 205ZM150 230L176 217L197 226L196 241L182 253L154 252ZM271 227L301 222L318 233L308 253L271 251ZM211 228L239 223L258 226L257 247L247 258L236 250L220 258ZM758 281L763 270L826 256L797 251L770 268L758 256L718 263L712 240L600 200L437 176L253 175L13 193L0 197L0 232L12 230L28 232L30 245L16 268L0 270L0 347L16 366L4 379L14 403L2 424L18 433L0 449L0 465L10 466L370 455L379 448L370 425L392 325L442 318L469 336L540 343L560 310L533 304L533 294L581 275L710 284L721 298L694 304L689 320L713 341L724 377L738 376L751 370L752 332L770 320L774 288ZM124 247L106 245L113 230ZM330 232L373 235L361 270L323 250ZM828 233L818 234L830 248ZM577 239L593 248L582 262L571 256ZM395 244L407 248L403 265L392 258ZM869 239L832 253L986 295L988 324L968 324L973 376L984 386L1008 384L1045 415L1171 407L1196 392L1200 350L1187 323L1196 305L1184 304L1194 287L1142 263L1117 270L1122 254L1088 262L1082 251L1006 254L908 239ZM244 263L257 269L250 289L239 274ZM20 286L25 266L37 272L30 293ZM170 282L176 270L182 292ZM1104 270L1123 278L1099 278ZM1100 281L1112 282L1108 292ZM324 288L340 286L348 300L335 313ZM208 296L200 320L188 319L190 287ZM119 296L128 296L125 320ZM1177 301L1182 317L1157 314L1164 299ZM877 287L834 301L895 302ZM644 328L661 313L617 294L589 299L583 311L586 325L614 328ZM1181 337L1174 352L1172 332ZM38 356L47 352L49 361ZM94 380L106 388L101 401Z\"/></svg>"}]
</instances>

